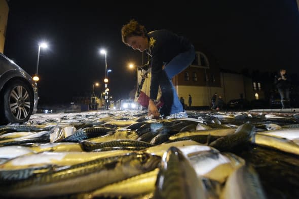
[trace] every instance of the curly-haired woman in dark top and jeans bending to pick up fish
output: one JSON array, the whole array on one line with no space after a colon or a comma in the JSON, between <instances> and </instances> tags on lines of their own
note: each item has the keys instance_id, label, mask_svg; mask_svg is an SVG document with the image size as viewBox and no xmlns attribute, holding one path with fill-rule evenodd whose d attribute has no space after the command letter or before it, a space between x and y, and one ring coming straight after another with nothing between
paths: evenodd
<instances>
[{"instance_id":1,"label":"curly-haired woman in dark top and jeans bending to pick up fish","mask_svg":"<svg viewBox=\"0 0 299 199\"><path fill-rule=\"evenodd\" d=\"M179 101L172 77L183 71L195 58L194 46L189 39L169 30L160 29L147 32L136 20L130 20L122 27L122 41L129 47L146 52L151 57L151 87L148 103L148 115L154 118L188 117ZM160 112L156 107L158 88L162 90L164 105Z\"/></svg>"}]
</instances>

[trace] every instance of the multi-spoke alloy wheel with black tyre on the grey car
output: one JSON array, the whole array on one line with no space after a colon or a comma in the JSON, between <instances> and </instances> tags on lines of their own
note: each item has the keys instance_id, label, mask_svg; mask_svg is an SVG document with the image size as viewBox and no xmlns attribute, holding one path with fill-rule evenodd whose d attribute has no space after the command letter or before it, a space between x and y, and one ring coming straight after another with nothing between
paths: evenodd
<instances>
[{"instance_id":1,"label":"multi-spoke alloy wheel with black tyre on the grey car","mask_svg":"<svg viewBox=\"0 0 299 199\"><path fill-rule=\"evenodd\" d=\"M23 123L33 111L33 94L22 81L10 83L3 92L2 118L7 123Z\"/></svg>"}]
</instances>

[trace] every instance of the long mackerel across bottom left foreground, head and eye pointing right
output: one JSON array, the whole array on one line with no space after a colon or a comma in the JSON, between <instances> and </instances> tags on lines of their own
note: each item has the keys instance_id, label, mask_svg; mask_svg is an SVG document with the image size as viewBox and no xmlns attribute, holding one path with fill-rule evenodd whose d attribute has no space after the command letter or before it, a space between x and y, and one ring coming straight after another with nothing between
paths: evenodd
<instances>
[{"instance_id":1,"label":"long mackerel across bottom left foreground, head and eye pointing right","mask_svg":"<svg viewBox=\"0 0 299 199\"><path fill-rule=\"evenodd\" d=\"M89 192L132 176L152 171L161 158L147 153L128 153L37 174L22 181L2 181L0 195L40 198Z\"/></svg>"}]
</instances>

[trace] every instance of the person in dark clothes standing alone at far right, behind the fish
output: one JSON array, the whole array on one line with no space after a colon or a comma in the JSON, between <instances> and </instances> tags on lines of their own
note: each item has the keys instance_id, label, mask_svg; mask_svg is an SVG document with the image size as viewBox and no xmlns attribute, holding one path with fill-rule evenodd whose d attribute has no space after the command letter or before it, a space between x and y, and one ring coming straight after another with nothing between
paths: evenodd
<instances>
[{"instance_id":1,"label":"person in dark clothes standing alone at far right, behind the fish","mask_svg":"<svg viewBox=\"0 0 299 199\"><path fill-rule=\"evenodd\" d=\"M279 74L275 75L274 84L276 85L276 88L280 95L280 103L282 106L281 108L289 108L290 107L290 98L289 98L290 79L287 76L285 69L280 69Z\"/></svg>"}]
</instances>

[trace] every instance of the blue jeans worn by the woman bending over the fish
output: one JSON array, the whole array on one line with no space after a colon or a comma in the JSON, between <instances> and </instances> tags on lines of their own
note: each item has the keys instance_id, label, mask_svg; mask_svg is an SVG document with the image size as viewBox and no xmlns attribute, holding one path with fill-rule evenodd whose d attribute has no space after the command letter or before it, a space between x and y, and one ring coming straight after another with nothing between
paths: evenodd
<instances>
[{"instance_id":1,"label":"blue jeans worn by the woman bending over the fish","mask_svg":"<svg viewBox=\"0 0 299 199\"><path fill-rule=\"evenodd\" d=\"M194 46L192 46L189 51L178 54L164 66L164 69L160 73L159 85L161 87L162 97L165 104L161 108L160 114L170 115L184 111L171 79L173 76L190 66L194 58L195 50Z\"/></svg>"}]
</instances>

